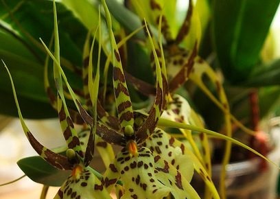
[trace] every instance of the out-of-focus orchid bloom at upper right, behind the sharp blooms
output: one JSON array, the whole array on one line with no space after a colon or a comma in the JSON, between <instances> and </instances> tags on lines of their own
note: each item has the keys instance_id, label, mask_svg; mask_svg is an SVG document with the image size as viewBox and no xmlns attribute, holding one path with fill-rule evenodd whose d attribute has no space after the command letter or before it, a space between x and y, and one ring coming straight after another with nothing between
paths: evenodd
<instances>
[{"instance_id":1,"label":"out-of-focus orchid bloom at upper right, behind the sharp blooms","mask_svg":"<svg viewBox=\"0 0 280 199\"><path fill-rule=\"evenodd\" d=\"M211 69L205 60L198 56L201 28L203 27L200 27L202 23L200 22L194 3L189 0L189 8L187 10L185 19L178 31L176 31L176 24L172 23L172 20L175 18L174 13L176 12L170 12L170 10L167 11L169 9L167 7L170 7L171 9L175 8L174 3L176 1L170 1L167 3L158 0L148 0L148 2L132 0L131 2L133 8L132 10L135 10L141 19L146 17L149 23L153 25L159 25L159 17L161 16L162 18L162 32L166 40L165 61L167 62L167 75L169 78L168 83L170 93L174 93L174 91L182 86L187 80L191 80L200 89L202 89L202 91L211 99L211 101L213 101L224 112L227 136L231 137L231 119L233 119L235 124L244 129L244 126L242 126L242 124L240 124L240 122L238 122L230 114L229 103L226 99L222 83L215 74L215 71ZM182 44L185 47L182 47ZM218 93L218 98L216 98L211 93L211 91L207 89L207 86L202 79L204 76L207 76L213 86L215 86L215 89ZM178 116L180 115L177 114L176 116L176 114L173 114L173 117L169 117L169 119L178 119L183 121ZM184 122L186 123L186 121ZM203 134L201 138L203 138L202 147L204 149L208 148L207 135ZM191 139L191 136L188 136L188 140L190 141ZM207 172L211 174L211 167L209 167L211 165L209 154L203 154L204 156L202 157L196 149L196 146L194 144L192 146L194 147L198 159L200 159L200 161L205 165ZM209 150L204 151L208 152ZM222 186L225 185L223 180L225 178L225 168L226 164L229 163L230 154L231 142L226 141L226 150L224 152L223 167L220 178L220 190L225 190L225 187ZM225 196L224 193L225 192L223 191L222 195Z\"/></svg>"}]
</instances>

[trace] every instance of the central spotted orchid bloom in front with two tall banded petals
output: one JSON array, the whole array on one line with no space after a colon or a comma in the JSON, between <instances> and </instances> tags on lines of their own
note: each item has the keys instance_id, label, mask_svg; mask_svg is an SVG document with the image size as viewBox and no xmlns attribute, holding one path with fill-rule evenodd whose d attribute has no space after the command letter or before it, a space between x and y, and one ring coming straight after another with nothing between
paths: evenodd
<instances>
[{"instance_id":1,"label":"central spotted orchid bloom in front with two tall banded petals","mask_svg":"<svg viewBox=\"0 0 280 199\"><path fill-rule=\"evenodd\" d=\"M112 48L115 104L121 129L119 132L108 124L99 121L97 135L108 143L124 147L115 156L113 163L108 166L101 180L102 186L110 191L117 180L121 180L124 188L124 192L119 193L121 198L164 198L170 193L175 198L199 198L196 191L189 185L189 180L194 171L189 156L184 155L180 148L167 145L170 138L161 136L161 134L166 135L166 133L156 128L168 95L163 49L161 48L156 53L154 40L152 40L146 25L146 32L152 46L156 65L156 96L147 116L137 114L132 110L132 102L126 85L119 50L113 36L110 14L105 1L102 1L102 4L106 14ZM163 60L161 65L159 59ZM156 145L150 143L148 146L145 141L153 140L154 137L157 137L155 139ZM161 145L161 143L164 143L164 145ZM162 148L162 150L165 148L164 154L155 154L152 148ZM181 166L182 168L180 168ZM183 169L187 169L187 172L181 174L180 171ZM95 189L100 188L102 190L104 189L102 186L96 186Z\"/></svg>"}]
</instances>

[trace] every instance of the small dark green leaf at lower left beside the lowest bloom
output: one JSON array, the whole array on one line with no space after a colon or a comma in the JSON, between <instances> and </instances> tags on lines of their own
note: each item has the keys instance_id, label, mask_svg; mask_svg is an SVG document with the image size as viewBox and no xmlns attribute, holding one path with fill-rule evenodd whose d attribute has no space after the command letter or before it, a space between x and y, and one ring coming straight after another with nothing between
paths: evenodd
<instances>
[{"instance_id":1,"label":"small dark green leaf at lower left beside the lowest bloom","mask_svg":"<svg viewBox=\"0 0 280 199\"><path fill-rule=\"evenodd\" d=\"M62 171L52 167L40 158L40 156L21 159L17 164L34 182L53 187L60 187L71 174L71 171Z\"/></svg>"}]
</instances>

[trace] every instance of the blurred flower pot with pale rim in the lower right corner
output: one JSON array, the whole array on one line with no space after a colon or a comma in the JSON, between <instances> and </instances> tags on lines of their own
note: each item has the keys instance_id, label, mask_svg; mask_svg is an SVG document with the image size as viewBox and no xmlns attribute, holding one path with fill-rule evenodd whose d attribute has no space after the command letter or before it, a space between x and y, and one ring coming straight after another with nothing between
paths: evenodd
<instances>
[{"instance_id":1,"label":"blurred flower pot with pale rim in the lower right corner","mask_svg":"<svg viewBox=\"0 0 280 199\"><path fill-rule=\"evenodd\" d=\"M271 130L272 140L280 140L280 128ZM268 154L268 158L279 165L280 144L275 143L275 148ZM227 199L275 199L277 196L277 183L279 169L276 165L267 163L263 167L264 160L254 159L231 163L226 167L226 198ZM215 186L219 186L220 171L222 165L213 165L212 179ZM203 196L204 183L198 176L194 176L192 185Z\"/></svg>"}]
</instances>

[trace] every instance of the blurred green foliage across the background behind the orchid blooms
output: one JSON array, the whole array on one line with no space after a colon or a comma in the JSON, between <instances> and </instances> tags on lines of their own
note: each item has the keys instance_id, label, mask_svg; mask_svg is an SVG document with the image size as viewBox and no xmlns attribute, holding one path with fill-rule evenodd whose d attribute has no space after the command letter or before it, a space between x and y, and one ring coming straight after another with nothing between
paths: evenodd
<instances>
[{"instance_id":1,"label":"blurred green foliage across the background behind the orchid blooms","mask_svg":"<svg viewBox=\"0 0 280 199\"><path fill-rule=\"evenodd\" d=\"M130 1L106 2L114 16L113 28L119 39L141 27L135 10L129 9ZM174 36L185 18L187 6L178 6L176 1L158 2L164 5L163 14ZM0 4L0 58L12 73L24 116L33 119L56 117L44 91L46 54L38 40L50 42L53 32L51 1L2 0ZM57 4L62 65L73 89L82 89L82 47L87 32L97 25L99 1L62 0ZM189 36L180 44L190 49L199 38L199 55L221 74L233 115L245 124L250 123L249 97L252 93L258 95L260 118L268 114L279 115L280 60L274 56L273 45L277 38L270 34L278 5L279 0L269 3L264 0L198 0ZM156 27L152 27L152 31L155 32ZM124 67L135 77L151 83L154 80L150 58L141 45L144 39L144 33L140 31L128 40ZM105 57L106 52L103 62ZM213 102L191 82L187 82L185 88L190 103L207 126L213 130L222 128L222 114ZM209 84L211 88L214 87ZM3 68L0 69L0 93L0 113L17 116L8 75ZM132 99L141 102L145 97L135 92Z\"/></svg>"}]
</instances>

